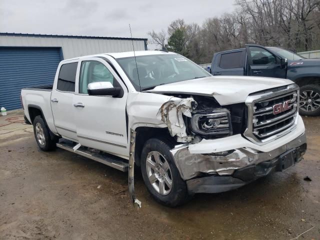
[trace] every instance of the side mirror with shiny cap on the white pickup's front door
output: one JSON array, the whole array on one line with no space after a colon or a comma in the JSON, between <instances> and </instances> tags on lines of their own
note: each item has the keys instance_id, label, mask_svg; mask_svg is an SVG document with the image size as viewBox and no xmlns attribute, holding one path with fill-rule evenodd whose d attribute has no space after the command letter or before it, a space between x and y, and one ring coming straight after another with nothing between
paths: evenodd
<instances>
[{"instance_id":1,"label":"side mirror with shiny cap on the white pickup's front door","mask_svg":"<svg viewBox=\"0 0 320 240\"><path fill-rule=\"evenodd\" d=\"M114 87L109 81L97 81L88 84L89 95L118 96L120 93L121 87Z\"/></svg>"}]
</instances>

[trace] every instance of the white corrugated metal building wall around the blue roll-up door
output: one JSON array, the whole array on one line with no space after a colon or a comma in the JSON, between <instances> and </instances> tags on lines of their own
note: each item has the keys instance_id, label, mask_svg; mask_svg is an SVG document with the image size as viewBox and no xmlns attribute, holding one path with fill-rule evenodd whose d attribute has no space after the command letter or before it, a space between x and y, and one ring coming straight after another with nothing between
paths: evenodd
<instances>
[{"instance_id":1,"label":"white corrugated metal building wall around the blue roll-up door","mask_svg":"<svg viewBox=\"0 0 320 240\"><path fill-rule=\"evenodd\" d=\"M133 40L134 49L145 50L144 40ZM132 51L132 41L128 39L108 39L99 37L72 37L72 36L32 36L12 35L2 33L0 46L50 46L62 47L63 58L90 55L104 52Z\"/></svg>"}]
</instances>

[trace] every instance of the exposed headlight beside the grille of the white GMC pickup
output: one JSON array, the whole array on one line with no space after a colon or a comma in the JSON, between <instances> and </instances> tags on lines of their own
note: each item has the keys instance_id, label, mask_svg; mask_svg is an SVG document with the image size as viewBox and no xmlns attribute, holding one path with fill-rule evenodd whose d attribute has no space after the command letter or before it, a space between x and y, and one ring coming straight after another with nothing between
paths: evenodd
<instances>
[{"instance_id":1,"label":"exposed headlight beside the grille of the white GMC pickup","mask_svg":"<svg viewBox=\"0 0 320 240\"><path fill-rule=\"evenodd\" d=\"M200 135L222 137L232 135L230 112L226 108L195 113L191 117L192 131Z\"/></svg>"}]
</instances>

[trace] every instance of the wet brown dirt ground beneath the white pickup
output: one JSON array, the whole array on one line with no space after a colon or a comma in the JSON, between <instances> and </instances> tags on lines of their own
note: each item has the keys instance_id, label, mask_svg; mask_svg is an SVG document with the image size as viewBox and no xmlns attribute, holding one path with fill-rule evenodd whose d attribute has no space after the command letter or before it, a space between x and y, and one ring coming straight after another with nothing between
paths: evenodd
<instances>
[{"instance_id":1,"label":"wet brown dirt ground beneath the white pickup","mask_svg":"<svg viewBox=\"0 0 320 240\"><path fill-rule=\"evenodd\" d=\"M9 122L21 115L0 116L0 239L320 239L320 117L303 118L307 153L287 171L177 208L156 203L138 174L136 209L127 173L40 151L31 125Z\"/></svg>"}]
</instances>

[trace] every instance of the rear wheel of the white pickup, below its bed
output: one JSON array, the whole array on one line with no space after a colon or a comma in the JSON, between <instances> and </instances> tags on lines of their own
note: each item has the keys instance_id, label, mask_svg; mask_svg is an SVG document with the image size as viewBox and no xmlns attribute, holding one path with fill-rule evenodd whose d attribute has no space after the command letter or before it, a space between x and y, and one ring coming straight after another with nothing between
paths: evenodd
<instances>
[{"instance_id":1,"label":"rear wheel of the white pickup, below its bed","mask_svg":"<svg viewBox=\"0 0 320 240\"><path fill-rule=\"evenodd\" d=\"M55 143L57 142L58 137L51 137L50 130L40 115L34 117L33 133L36 143L38 144L41 150L49 151L55 149Z\"/></svg>"}]
</instances>

